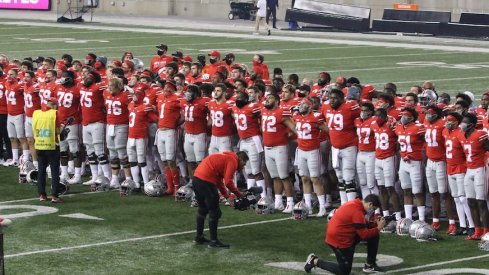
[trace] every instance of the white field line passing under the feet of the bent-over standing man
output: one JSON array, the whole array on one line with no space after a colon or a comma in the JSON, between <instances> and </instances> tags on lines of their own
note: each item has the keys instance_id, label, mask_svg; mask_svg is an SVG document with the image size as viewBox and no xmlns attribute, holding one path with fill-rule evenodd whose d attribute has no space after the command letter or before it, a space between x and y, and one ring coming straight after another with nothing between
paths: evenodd
<instances>
[{"instance_id":1,"label":"white field line passing under the feet of the bent-over standing man","mask_svg":"<svg viewBox=\"0 0 489 275\"><path fill-rule=\"evenodd\" d=\"M219 227L219 230L236 228L236 227L243 227L243 226L249 226L249 225L259 225L259 224L266 224L266 223L272 223L272 222L280 222L280 221L286 221L286 220L290 220L290 219L292 219L292 217L275 219L275 220L268 220L268 221L259 221L259 222L226 225L226 226ZM205 229L205 231L208 231L208 230L209 229ZM181 232L174 232L174 233L167 233L167 234L160 234L160 235L152 235L152 236L145 236L145 237L138 237L138 238L129 238L129 239L124 239L124 240L116 240L116 241L108 241L108 242L91 243L91 244L83 244L83 245L75 245L75 246L66 246L66 247L60 247L60 248L28 251L28 252L22 252L22 253L17 253L17 254L5 255L5 258L10 259L10 258L16 258L16 257L22 257L22 256L30 256L30 255L35 255L35 254L44 254L44 253L52 253L52 252L59 252L59 251L65 251L65 250L89 248L89 247L95 247L95 246L104 246L104 245L112 245L112 244L119 244L119 243L152 240L152 239L180 236L180 235L186 235L186 234L192 234L192 233L195 233L195 230L188 230L188 231L181 231Z\"/></svg>"}]
</instances>

